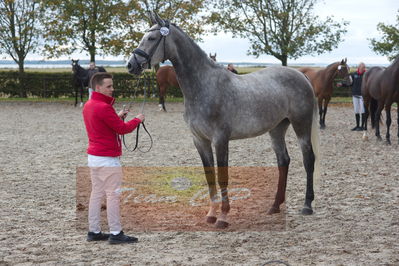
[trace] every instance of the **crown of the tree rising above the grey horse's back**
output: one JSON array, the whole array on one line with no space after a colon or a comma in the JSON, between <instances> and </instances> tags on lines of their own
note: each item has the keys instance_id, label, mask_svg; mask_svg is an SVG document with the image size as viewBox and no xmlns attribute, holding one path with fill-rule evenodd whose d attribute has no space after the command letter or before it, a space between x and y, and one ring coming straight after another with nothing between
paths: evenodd
<instances>
[{"instance_id":1,"label":"crown of the tree rising above the grey horse's back","mask_svg":"<svg viewBox=\"0 0 399 266\"><path fill-rule=\"evenodd\" d=\"M268 54L286 66L288 58L332 51L348 22L314 15L318 0L217 0L209 21L233 37L249 40L249 55Z\"/></svg>"}]
</instances>

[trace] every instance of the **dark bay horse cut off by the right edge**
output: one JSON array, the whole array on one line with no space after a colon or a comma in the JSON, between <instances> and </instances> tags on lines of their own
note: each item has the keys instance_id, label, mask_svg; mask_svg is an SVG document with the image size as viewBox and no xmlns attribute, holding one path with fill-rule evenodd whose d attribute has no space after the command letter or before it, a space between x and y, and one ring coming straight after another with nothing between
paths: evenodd
<instances>
[{"instance_id":1,"label":"dark bay horse cut off by the right edge","mask_svg":"<svg viewBox=\"0 0 399 266\"><path fill-rule=\"evenodd\" d=\"M387 68L372 67L366 71L362 81L362 95L364 98L364 105L368 111L367 113L371 116L371 126L372 128L375 128L377 140L382 140L379 121L382 109L385 107L385 113L387 116L386 142L387 144L391 144L389 133L389 128L392 123L391 106L394 102L399 103L399 56ZM397 112L399 125L399 106Z\"/></svg>"}]
</instances>

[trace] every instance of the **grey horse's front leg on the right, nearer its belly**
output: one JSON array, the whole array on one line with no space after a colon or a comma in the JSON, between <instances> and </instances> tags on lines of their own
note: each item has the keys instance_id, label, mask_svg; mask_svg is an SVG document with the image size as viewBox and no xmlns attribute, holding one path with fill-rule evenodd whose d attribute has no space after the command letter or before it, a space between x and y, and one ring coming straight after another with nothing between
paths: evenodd
<instances>
[{"instance_id":1,"label":"grey horse's front leg on the right, nearer its belly","mask_svg":"<svg viewBox=\"0 0 399 266\"><path fill-rule=\"evenodd\" d=\"M220 187L221 198L222 198L222 213L219 215L216 227L226 228L229 226L227 221L227 214L230 211L230 202L227 192L229 185L229 171L228 171L228 160L229 160L229 141L228 139L219 140L215 144L216 159L218 164L218 184Z\"/></svg>"}]
</instances>

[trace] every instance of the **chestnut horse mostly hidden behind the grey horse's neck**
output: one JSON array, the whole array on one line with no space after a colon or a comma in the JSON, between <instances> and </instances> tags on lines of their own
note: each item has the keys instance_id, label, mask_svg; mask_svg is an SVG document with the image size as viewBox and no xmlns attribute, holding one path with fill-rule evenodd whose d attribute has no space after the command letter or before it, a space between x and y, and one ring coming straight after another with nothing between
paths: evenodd
<instances>
[{"instance_id":1,"label":"chestnut horse mostly hidden behind the grey horse's neck","mask_svg":"<svg viewBox=\"0 0 399 266\"><path fill-rule=\"evenodd\" d=\"M216 62L215 55L209 54L209 57ZM156 73L157 85L159 88L159 108L166 112L165 108L165 96L166 90L170 87L175 87L180 89L179 82L176 78L176 72L173 66L162 66L158 69Z\"/></svg>"}]
</instances>

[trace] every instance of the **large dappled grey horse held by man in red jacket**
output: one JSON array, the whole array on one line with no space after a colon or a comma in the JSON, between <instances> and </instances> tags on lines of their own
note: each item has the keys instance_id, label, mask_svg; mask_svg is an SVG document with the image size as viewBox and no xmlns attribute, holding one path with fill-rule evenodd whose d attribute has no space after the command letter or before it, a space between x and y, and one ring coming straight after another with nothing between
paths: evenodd
<instances>
[{"instance_id":1,"label":"large dappled grey horse held by man in red jacket","mask_svg":"<svg viewBox=\"0 0 399 266\"><path fill-rule=\"evenodd\" d=\"M184 95L184 119L201 157L209 186L208 223L226 228L229 141L269 132L277 156L279 182L269 214L280 212L285 200L290 157L285 134L291 124L299 140L306 170L306 194L302 213L313 213L313 181L318 177L317 101L312 85L299 71L269 67L247 75L235 75L217 65L178 26L152 14L152 26L128 62L128 71L140 75L144 68L169 59ZM217 217L218 190L222 199Z\"/></svg>"}]
</instances>

